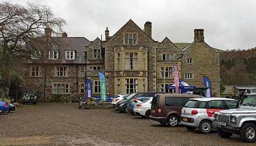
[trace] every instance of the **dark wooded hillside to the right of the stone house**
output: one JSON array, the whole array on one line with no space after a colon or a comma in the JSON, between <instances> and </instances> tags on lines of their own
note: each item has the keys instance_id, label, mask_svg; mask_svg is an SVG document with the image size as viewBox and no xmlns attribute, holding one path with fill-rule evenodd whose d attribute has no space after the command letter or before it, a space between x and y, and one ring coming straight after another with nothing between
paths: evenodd
<instances>
[{"instance_id":1,"label":"dark wooded hillside to the right of the stone house","mask_svg":"<svg viewBox=\"0 0 256 146\"><path fill-rule=\"evenodd\" d=\"M224 85L256 85L256 47L222 52L220 79Z\"/></svg>"}]
</instances>

